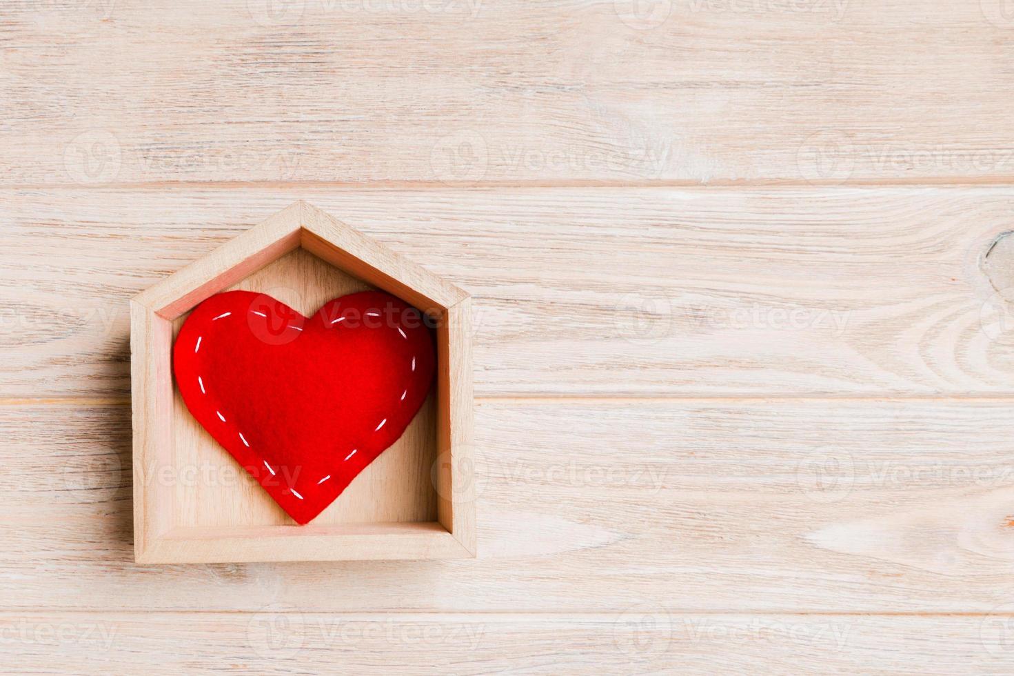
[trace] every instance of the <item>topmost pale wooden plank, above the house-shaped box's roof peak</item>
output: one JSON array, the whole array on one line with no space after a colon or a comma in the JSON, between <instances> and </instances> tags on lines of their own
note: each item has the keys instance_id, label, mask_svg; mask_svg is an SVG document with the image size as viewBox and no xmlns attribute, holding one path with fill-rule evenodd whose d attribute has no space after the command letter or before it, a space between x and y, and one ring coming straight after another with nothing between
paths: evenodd
<instances>
[{"instance_id":1,"label":"topmost pale wooden plank, above the house-shaped box's roof peak","mask_svg":"<svg viewBox=\"0 0 1014 676\"><path fill-rule=\"evenodd\" d=\"M0 177L1009 179L1004 10L1003 0L16 3L0 14Z\"/></svg>"}]
</instances>

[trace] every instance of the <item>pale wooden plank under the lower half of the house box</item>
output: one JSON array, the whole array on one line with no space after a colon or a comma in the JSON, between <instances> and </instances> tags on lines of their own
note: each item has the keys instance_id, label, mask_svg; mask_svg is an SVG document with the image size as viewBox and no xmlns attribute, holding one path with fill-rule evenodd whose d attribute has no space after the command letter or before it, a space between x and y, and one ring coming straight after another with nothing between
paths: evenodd
<instances>
[{"instance_id":1,"label":"pale wooden plank under the lower half of the house box","mask_svg":"<svg viewBox=\"0 0 1014 676\"><path fill-rule=\"evenodd\" d=\"M6 608L1012 610L1005 401L484 403L477 559L154 568L128 418L0 407Z\"/></svg>"}]
</instances>

